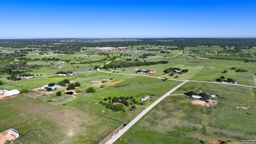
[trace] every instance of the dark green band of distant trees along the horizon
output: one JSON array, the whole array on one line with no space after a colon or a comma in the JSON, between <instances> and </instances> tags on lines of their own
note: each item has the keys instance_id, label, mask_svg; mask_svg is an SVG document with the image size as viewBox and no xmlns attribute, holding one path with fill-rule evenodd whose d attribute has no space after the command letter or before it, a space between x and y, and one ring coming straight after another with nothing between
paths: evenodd
<instances>
[{"instance_id":1,"label":"dark green band of distant trees along the horizon","mask_svg":"<svg viewBox=\"0 0 256 144\"><path fill-rule=\"evenodd\" d=\"M69 41L68 41L69 40ZM165 46L213 46L221 47L253 47L256 46L256 38L142 38L139 41L89 41L89 39L2 39L0 47L13 48L39 48L44 51L57 50L65 52L81 51L82 47L121 47L131 45L165 45Z\"/></svg>"}]
</instances>

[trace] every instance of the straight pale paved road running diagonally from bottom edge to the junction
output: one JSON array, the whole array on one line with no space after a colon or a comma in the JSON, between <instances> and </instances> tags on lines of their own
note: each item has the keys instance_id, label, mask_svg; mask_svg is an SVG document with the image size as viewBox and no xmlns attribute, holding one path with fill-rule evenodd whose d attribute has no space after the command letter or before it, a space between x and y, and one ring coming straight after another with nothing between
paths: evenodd
<instances>
[{"instance_id":1,"label":"straight pale paved road running diagonally from bottom edge to the junction","mask_svg":"<svg viewBox=\"0 0 256 144\"><path fill-rule=\"evenodd\" d=\"M118 138L120 138L127 130L130 129L131 126L133 126L136 122L139 121L139 119L144 116L145 114L148 113L148 111L150 109L152 109L153 107L155 107L157 105L157 103L159 103L160 101L162 101L164 98L166 98L168 95L170 95L173 91L177 90L180 86L182 86L183 84L187 83L187 81L182 82L181 84L175 86L171 91L165 93L162 97L160 97L159 99L157 99L154 103L152 103L150 106L148 106L146 109L144 109L137 117L135 117L129 124L127 124L120 132L118 132L116 134L115 137L111 138L110 140L108 140L106 142L106 144L111 144L114 143Z\"/></svg>"}]
</instances>

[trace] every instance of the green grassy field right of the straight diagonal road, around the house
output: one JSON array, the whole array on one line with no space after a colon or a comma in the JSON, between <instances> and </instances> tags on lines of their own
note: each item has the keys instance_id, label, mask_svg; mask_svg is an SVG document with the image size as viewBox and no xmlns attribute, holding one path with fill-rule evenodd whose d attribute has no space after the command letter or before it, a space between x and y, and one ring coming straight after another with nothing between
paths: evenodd
<instances>
[{"instance_id":1,"label":"green grassy field right of the straight diagonal road, around the house","mask_svg":"<svg viewBox=\"0 0 256 144\"><path fill-rule=\"evenodd\" d=\"M214 108L192 105L193 99L182 95L189 90L218 94ZM256 138L255 89L222 84L189 82L180 87L147 116L126 132L116 143L207 143L218 140ZM237 106L250 109L236 110Z\"/></svg>"}]
</instances>

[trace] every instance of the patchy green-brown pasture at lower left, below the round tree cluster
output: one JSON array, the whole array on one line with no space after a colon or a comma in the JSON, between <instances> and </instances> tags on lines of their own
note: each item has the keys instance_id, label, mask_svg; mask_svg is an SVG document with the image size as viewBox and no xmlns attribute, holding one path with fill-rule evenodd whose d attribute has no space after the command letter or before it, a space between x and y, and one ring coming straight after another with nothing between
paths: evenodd
<instances>
[{"instance_id":1,"label":"patchy green-brown pasture at lower left, below the round tree cluster","mask_svg":"<svg viewBox=\"0 0 256 144\"><path fill-rule=\"evenodd\" d=\"M23 95L0 100L0 131L14 128L14 143L98 143L119 121Z\"/></svg>"}]
</instances>

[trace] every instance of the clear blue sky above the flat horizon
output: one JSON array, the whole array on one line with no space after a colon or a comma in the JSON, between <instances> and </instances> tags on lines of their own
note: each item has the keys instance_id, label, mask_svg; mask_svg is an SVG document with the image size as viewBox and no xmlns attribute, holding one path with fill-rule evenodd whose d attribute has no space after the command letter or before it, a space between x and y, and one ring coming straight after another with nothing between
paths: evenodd
<instances>
[{"instance_id":1,"label":"clear blue sky above the flat horizon","mask_svg":"<svg viewBox=\"0 0 256 144\"><path fill-rule=\"evenodd\" d=\"M0 1L0 38L148 37L256 37L256 1Z\"/></svg>"}]
</instances>

